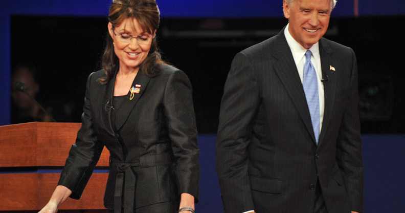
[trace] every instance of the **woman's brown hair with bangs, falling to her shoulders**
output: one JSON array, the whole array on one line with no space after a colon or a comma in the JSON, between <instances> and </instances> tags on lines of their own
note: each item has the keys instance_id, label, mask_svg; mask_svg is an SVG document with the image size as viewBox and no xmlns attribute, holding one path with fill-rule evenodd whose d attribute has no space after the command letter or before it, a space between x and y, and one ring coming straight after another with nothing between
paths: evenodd
<instances>
[{"instance_id":1,"label":"woman's brown hair with bangs, falling to her shoulders","mask_svg":"<svg viewBox=\"0 0 405 213\"><path fill-rule=\"evenodd\" d=\"M113 28L120 25L127 18L136 18L145 32L153 34L159 28L160 11L155 0L114 0L108 13L108 21ZM113 38L107 32L107 44L101 60L104 69L104 77L99 79L100 83L107 83L119 69L119 59L114 52ZM156 37L153 38L149 54L140 66L140 71L153 77L159 74L156 68L159 64L165 63L159 52Z\"/></svg>"}]
</instances>

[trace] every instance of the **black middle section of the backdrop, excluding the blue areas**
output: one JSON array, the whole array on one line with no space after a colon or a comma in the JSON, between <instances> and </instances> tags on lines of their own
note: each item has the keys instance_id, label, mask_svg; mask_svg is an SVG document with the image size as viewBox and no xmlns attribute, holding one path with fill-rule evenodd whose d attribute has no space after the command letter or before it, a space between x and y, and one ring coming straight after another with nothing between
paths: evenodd
<instances>
[{"instance_id":1,"label":"black middle section of the backdrop, excluding the blue areas","mask_svg":"<svg viewBox=\"0 0 405 213\"><path fill-rule=\"evenodd\" d=\"M363 133L405 133L402 35L387 33L405 16L338 17L325 37L357 54ZM224 81L233 56L278 33L284 18L163 18L158 32L164 58L190 77L200 133L215 133ZM80 122L84 84L100 69L104 17L11 17L11 64L33 62L38 99L60 122ZM27 36L27 32L35 32ZM14 108L13 108L14 109Z\"/></svg>"}]
</instances>

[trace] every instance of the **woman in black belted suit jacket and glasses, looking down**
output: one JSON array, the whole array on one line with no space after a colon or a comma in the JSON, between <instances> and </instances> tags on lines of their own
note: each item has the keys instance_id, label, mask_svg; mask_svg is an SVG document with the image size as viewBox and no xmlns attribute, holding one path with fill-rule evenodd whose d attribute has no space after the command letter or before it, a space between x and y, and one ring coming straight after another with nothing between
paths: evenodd
<instances>
[{"instance_id":1,"label":"woman in black belted suit jacket and glasses, looking down","mask_svg":"<svg viewBox=\"0 0 405 213\"><path fill-rule=\"evenodd\" d=\"M117 212L194 212L198 147L187 75L158 51L154 0L114 1L103 70L89 75L82 126L49 203L79 199L104 146L110 171L104 205Z\"/></svg>"}]
</instances>

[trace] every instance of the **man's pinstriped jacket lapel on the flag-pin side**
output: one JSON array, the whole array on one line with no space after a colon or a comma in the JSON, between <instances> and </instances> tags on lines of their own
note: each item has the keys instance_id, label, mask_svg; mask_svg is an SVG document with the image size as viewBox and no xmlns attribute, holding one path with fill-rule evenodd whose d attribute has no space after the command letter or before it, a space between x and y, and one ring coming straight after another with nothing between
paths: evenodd
<instances>
[{"instance_id":1,"label":"man's pinstriped jacket lapel on the flag-pin side","mask_svg":"<svg viewBox=\"0 0 405 213\"><path fill-rule=\"evenodd\" d=\"M321 39L319 41L319 51L321 56L322 76L323 79L328 79L326 82L324 82L325 110L324 110L324 119L322 122L322 131L319 137L319 145L320 145L323 142L326 131L328 130L329 121L331 119L331 115L333 112L333 105L336 92L336 76L334 71L330 70L330 66L334 66L331 57L332 50L330 49L325 39Z\"/></svg>"}]
</instances>

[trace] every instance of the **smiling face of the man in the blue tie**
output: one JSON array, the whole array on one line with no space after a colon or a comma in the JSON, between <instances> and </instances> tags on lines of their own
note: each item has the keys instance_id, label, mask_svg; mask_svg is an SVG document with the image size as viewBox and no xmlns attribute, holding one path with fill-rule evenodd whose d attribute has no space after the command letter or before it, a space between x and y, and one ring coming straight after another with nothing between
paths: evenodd
<instances>
[{"instance_id":1,"label":"smiling face of the man in the blue tie","mask_svg":"<svg viewBox=\"0 0 405 213\"><path fill-rule=\"evenodd\" d=\"M283 2L284 16L289 20L288 31L305 49L309 49L325 35L332 0L294 0Z\"/></svg>"}]
</instances>

